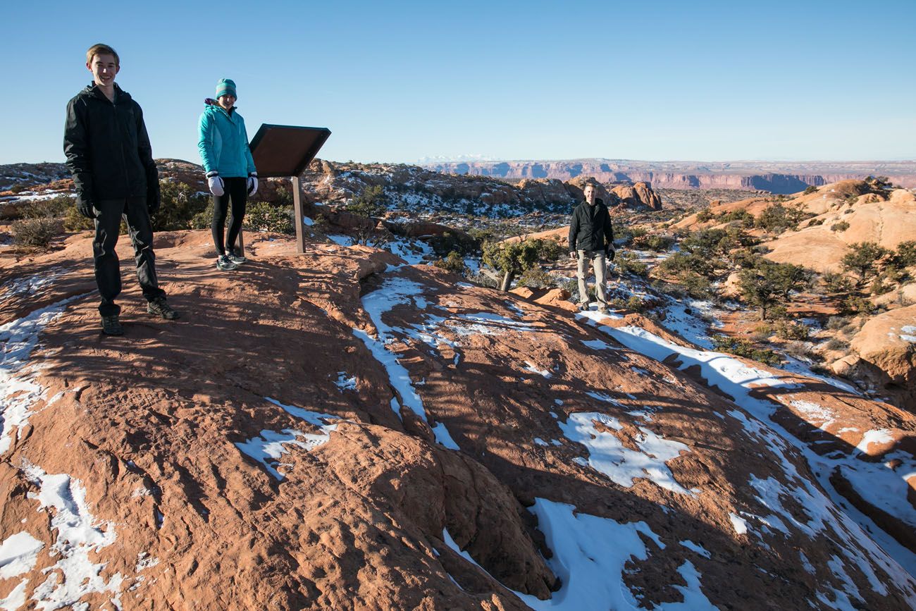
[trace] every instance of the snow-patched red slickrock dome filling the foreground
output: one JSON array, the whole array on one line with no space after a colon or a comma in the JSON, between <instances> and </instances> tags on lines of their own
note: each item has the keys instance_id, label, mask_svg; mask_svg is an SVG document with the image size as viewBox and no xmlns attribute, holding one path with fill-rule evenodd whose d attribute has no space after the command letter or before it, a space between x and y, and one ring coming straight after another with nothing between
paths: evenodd
<instances>
[{"instance_id":1,"label":"snow-patched red slickrock dome filling the foreground","mask_svg":"<svg viewBox=\"0 0 916 611\"><path fill-rule=\"evenodd\" d=\"M638 316L247 240L219 273L209 232L157 235L166 322L122 239L123 338L87 235L0 256L5 608L916 606L905 412Z\"/></svg>"}]
</instances>

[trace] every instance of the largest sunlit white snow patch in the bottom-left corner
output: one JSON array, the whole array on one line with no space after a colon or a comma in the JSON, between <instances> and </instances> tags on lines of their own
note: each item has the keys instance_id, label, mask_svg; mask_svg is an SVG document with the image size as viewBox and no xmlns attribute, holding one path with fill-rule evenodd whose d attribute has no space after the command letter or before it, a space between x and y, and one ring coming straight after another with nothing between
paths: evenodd
<instances>
[{"instance_id":1,"label":"largest sunlit white snow patch in the bottom-left corner","mask_svg":"<svg viewBox=\"0 0 916 611\"><path fill-rule=\"evenodd\" d=\"M27 480L38 486L38 493L28 497L38 501L38 511L49 511L50 527L57 539L49 551L60 560L45 569L48 578L35 587L32 600L39 609L59 609L79 602L83 595L110 592L120 596L124 577L121 573L102 576L104 562L93 562L97 554L115 540L114 522L101 523L93 517L86 502L86 489L70 475L46 474L34 464L23 466ZM62 578L62 583L60 579ZM120 602L117 603L120 607Z\"/></svg>"}]
</instances>

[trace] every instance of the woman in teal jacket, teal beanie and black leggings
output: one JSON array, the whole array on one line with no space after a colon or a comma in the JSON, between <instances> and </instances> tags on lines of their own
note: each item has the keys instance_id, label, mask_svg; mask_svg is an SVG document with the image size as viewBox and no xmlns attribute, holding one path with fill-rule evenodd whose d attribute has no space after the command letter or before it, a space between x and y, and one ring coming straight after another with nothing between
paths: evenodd
<instances>
[{"instance_id":1,"label":"woman in teal jacket, teal beanie and black leggings","mask_svg":"<svg viewBox=\"0 0 916 611\"><path fill-rule=\"evenodd\" d=\"M245 218L245 200L257 191L255 160L248 148L245 119L235 110L235 83L221 79L216 83L216 99L204 100L198 124L203 171L213 193L213 244L216 245L216 268L234 269L245 263L245 257L235 249L235 240ZM226 213L229 233L224 238ZM226 252L228 245L228 253Z\"/></svg>"}]
</instances>

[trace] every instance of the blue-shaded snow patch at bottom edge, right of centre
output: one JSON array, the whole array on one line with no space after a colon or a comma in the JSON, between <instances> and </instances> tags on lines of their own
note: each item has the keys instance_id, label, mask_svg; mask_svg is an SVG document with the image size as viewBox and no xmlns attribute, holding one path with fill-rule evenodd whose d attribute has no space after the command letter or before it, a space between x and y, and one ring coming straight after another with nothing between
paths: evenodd
<instances>
[{"instance_id":1,"label":"blue-shaded snow patch at bottom edge, right of centre","mask_svg":"<svg viewBox=\"0 0 916 611\"><path fill-rule=\"evenodd\" d=\"M640 605L624 577L626 565L633 559L646 560L649 552L639 533L651 533L645 522L620 523L610 518L576 514L575 507L536 498L531 512L538 517L553 557L548 561L560 577L562 587L549 600L519 594L532 609L569 611L606 611L638 609ZM650 539L657 539L649 535ZM473 561L472 561L473 562ZM678 573L687 583L674 585L681 602L662 603L664 611L701 611L716 607L703 594L701 575L691 562L684 562Z\"/></svg>"}]
</instances>

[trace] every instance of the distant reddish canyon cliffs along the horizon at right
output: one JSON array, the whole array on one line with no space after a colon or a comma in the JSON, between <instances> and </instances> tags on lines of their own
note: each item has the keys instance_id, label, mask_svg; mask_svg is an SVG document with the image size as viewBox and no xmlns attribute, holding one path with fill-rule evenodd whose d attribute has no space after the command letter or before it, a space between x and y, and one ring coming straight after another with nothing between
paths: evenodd
<instances>
[{"instance_id":1,"label":"distant reddish canyon cliffs along the horizon at right","mask_svg":"<svg viewBox=\"0 0 916 611\"><path fill-rule=\"evenodd\" d=\"M644 167L639 167L644 165ZM592 176L601 182L649 182L655 189L742 189L747 191L771 191L774 193L794 193L803 191L809 185L821 186L838 180L862 179L868 175L887 176L894 184L912 188L916 187L916 163L900 162L902 172L890 173L886 167L876 164L867 167L856 162L848 171L811 171L812 162L800 162L806 171L753 171L747 163L708 169L696 167L690 169L652 169L653 165L671 164L619 164L603 160L573 161L478 161L478 162L444 162L425 166L435 171L490 176L494 178L522 179L559 179L570 180L580 176ZM767 165L767 164L761 164Z\"/></svg>"}]
</instances>

